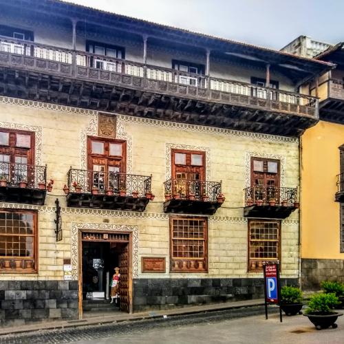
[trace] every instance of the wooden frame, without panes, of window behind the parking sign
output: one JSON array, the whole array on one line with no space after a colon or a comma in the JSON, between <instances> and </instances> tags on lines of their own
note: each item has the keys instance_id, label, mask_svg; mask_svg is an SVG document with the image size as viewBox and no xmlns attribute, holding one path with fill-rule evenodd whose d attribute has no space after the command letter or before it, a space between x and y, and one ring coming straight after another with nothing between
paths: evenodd
<instances>
[{"instance_id":1,"label":"wooden frame, without panes, of window behind the parking sign","mask_svg":"<svg viewBox=\"0 0 344 344\"><path fill-rule=\"evenodd\" d=\"M250 233L251 233L251 228L250 228L250 224L252 222L269 222L269 223L275 223L277 224L277 240L272 240L274 242L277 242L277 259L279 260L279 262L281 263L281 221L280 220L268 220L268 219L248 219L248 255L247 255L247 271L248 272L263 272L263 265L261 264L261 266L256 266L255 268L251 267L250 261L261 261L261 263L263 263L264 261L274 261L276 260L275 258L271 258L271 257L263 257L262 259L257 259L257 258L252 258L250 257L250 251L251 251L251 239L250 239ZM256 241L268 241L268 239L257 239ZM281 268L281 264L279 264L280 268Z\"/></svg>"}]
</instances>

